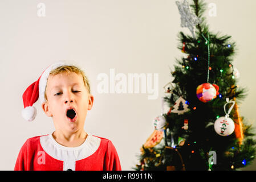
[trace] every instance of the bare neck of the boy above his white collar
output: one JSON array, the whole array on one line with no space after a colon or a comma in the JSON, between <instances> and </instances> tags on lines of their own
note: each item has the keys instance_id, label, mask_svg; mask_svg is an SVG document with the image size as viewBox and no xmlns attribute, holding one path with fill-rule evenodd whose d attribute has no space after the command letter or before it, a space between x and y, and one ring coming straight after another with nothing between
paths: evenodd
<instances>
[{"instance_id":1,"label":"bare neck of the boy above his white collar","mask_svg":"<svg viewBox=\"0 0 256 182\"><path fill-rule=\"evenodd\" d=\"M78 147L86 140L87 133L84 130L78 130L74 133L64 133L61 130L55 130L52 133L52 137L56 142L65 147Z\"/></svg>"}]
</instances>

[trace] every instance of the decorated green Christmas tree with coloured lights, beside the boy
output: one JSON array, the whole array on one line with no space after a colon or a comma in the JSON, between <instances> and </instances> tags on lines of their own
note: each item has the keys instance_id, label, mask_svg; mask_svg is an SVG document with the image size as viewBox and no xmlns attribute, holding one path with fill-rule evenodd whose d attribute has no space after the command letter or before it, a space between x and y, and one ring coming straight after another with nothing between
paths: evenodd
<instances>
[{"instance_id":1,"label":"decorated green Christmas tree with coloured lights, beside the boy","mask_svg":"<svg viewBox=\"0 0 256 182\"><path fill-rule=\"evenodd\" d=\"M237 86L238 72L232 64L235 43L231 36L209 31L204 1L176 4L181 27L188 27L192 36L178 34L184 57L176 60L174 80L163 98L170 109L155 119L154 135L141 147L140 163L133 169L245 167L255 158L256 141L252 126L238 111L246 89Z\"/></svg>"}]
</instances>

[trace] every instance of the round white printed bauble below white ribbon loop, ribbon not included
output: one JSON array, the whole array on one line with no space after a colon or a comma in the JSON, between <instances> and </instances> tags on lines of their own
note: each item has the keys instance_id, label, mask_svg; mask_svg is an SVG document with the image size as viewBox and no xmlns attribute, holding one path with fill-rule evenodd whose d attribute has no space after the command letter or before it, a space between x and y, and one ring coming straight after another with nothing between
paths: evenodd
<instances>
[{"instance_id":1,"label":"round white printed bauble below white ribbon loop, ribbon not included","mask_svg":"<svg viewBox=\"0 0 256 182\"><path fill-rule=\"evenodd\" d=\"M228 136L235 130L234 121L229 117L220 117L214 122L214 130L221 136Z\"/></svg>"}]
</instances>

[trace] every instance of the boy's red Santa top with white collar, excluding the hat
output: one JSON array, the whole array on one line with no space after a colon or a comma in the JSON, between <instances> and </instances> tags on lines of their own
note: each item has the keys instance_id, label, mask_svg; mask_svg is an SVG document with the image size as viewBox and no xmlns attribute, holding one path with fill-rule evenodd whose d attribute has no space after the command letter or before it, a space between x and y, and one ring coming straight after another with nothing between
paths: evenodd
<instances>
[{"instance_id":1,"label":"boy's red Santa top with white collar, excluding the hat","mask_svg":"<svg viewBox=\"0 0 256 182\"><path fill-rule=\"evenodd\" d=\"M51 134L27 139L14 170L102 171L121 170L119 157L108 139L88 134L78 147L65 147Z\"/></svg>"}]
</instances>

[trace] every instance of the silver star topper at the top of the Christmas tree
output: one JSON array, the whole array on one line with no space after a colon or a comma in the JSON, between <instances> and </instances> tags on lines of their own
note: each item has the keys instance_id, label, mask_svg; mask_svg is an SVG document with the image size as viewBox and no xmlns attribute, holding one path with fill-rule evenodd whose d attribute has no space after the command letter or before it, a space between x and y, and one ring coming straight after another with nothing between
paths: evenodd
<instances>
[{"instance_id":1,"label":"silver star topper at the top of the Christmas tree","mask_svg":"<svg viewBox=\"0 0 256 182\"><path fill-rule=\"evenodd\" d=\"M188 27L190 32L192 32L193 38L195 38L194 26L200 23L201 19L191 13L187 0L184 0L183 3L176 1L176 5L178 6L178 11L181 14L181 27Z\"/></svg>"}]
</instances>

